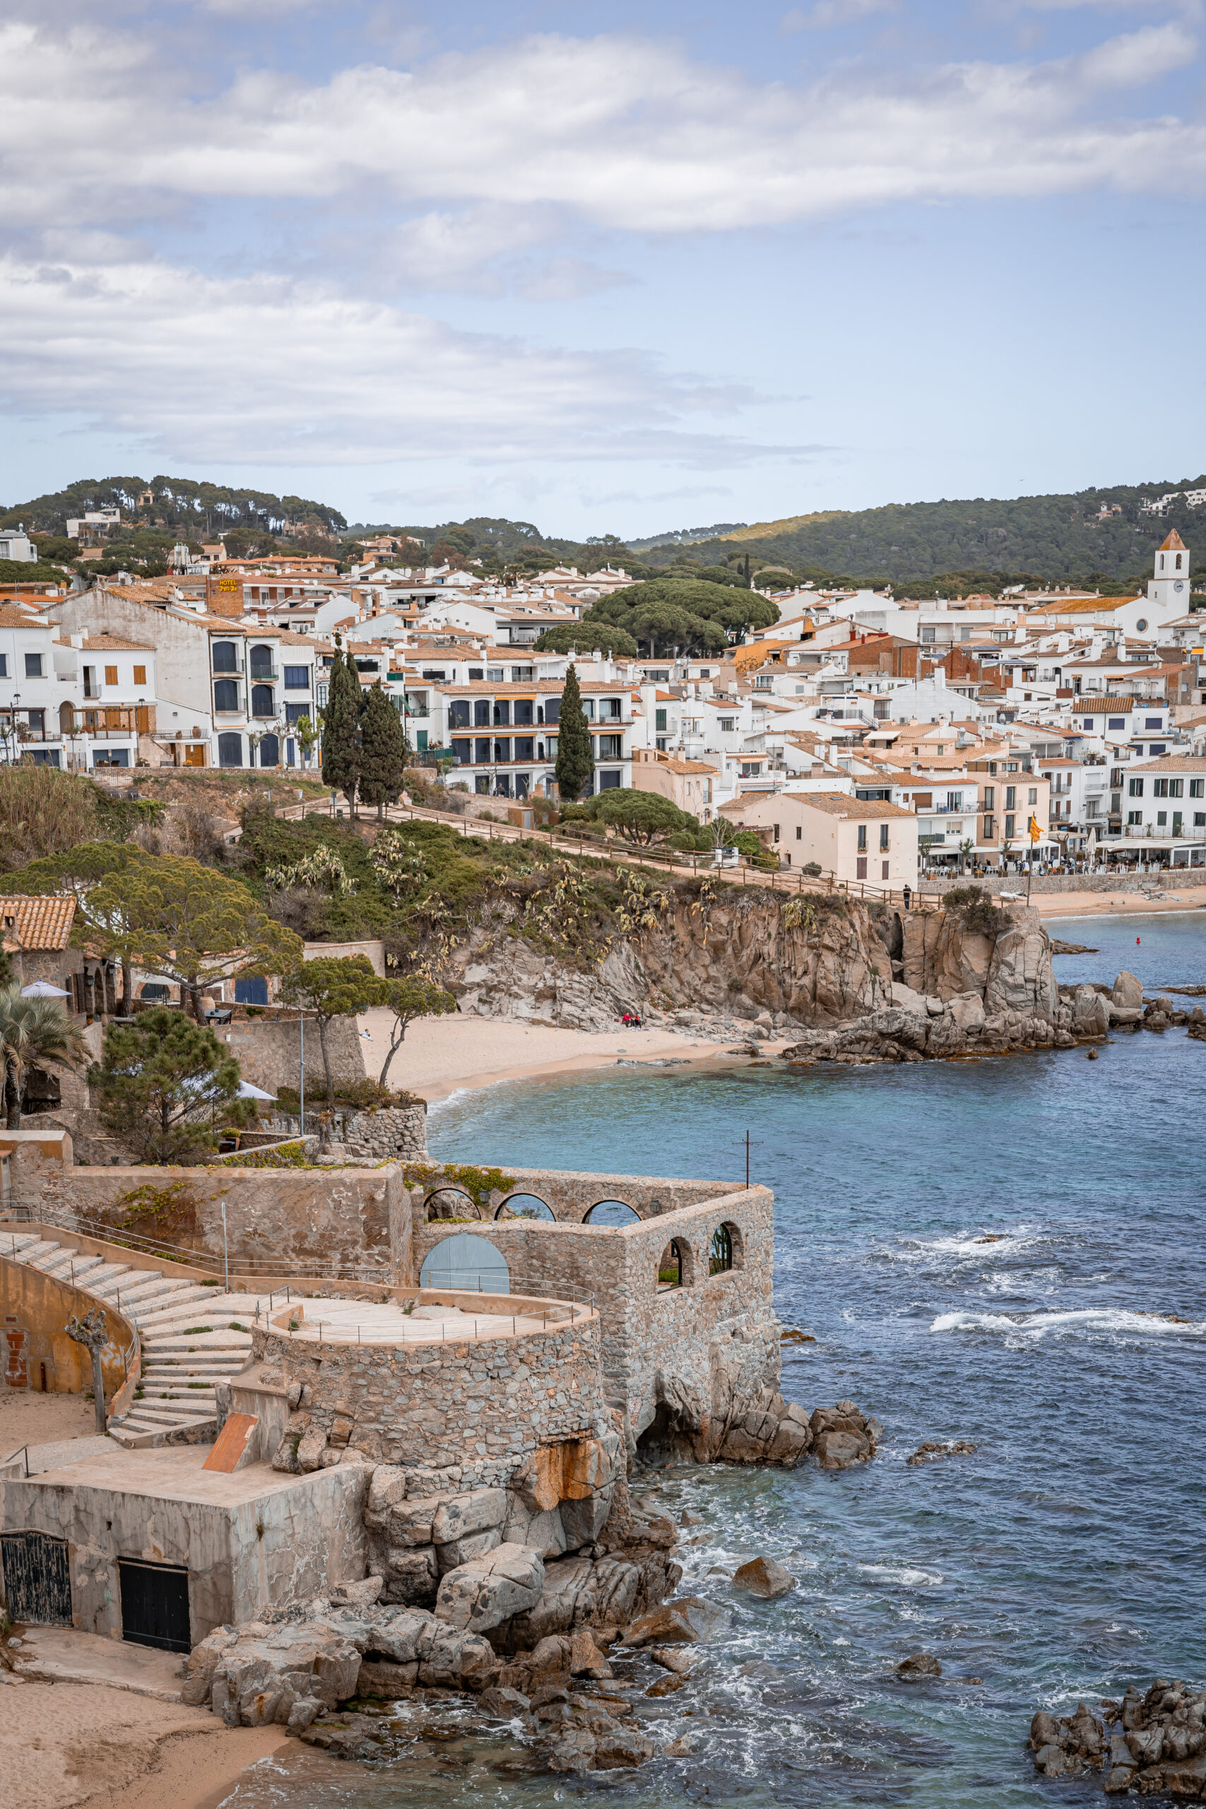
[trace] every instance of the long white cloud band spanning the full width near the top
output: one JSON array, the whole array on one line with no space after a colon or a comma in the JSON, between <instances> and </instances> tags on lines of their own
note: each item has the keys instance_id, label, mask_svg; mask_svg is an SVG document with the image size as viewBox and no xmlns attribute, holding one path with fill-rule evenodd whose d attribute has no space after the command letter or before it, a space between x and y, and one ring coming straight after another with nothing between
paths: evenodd
<instances>
[{"instance_id":1,"label":"long white cloud band spanning the full width near the top","mask_svg":"<svg viewBox=\"0 0 1206 1809\"><path fill-rule=\"evenodd\" d=\"M962 62L790 87L624 36L541 36L416 71L269 69L190 99L141 42L0 33L11 224L203 199L555 210L644 233L783 226L902 201L1197 190L1206 128L1117 118L1195 58L1182 24L1049 63ZM1105 103L1105 107L1103 107Z\"/></svg>"}]
</instances>

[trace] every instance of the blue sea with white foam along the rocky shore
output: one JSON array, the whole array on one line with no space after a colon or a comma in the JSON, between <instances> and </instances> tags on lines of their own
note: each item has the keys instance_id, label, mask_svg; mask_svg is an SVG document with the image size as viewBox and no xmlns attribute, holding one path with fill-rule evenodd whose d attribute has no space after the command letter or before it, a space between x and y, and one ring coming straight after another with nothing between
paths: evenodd
<instances>
[{"instance_id":1,"label":"blue sea with white foam along the rocky shore","mask_svg":"<svg viewBox=\"0 0 1206 1809\"><path fill-rule=\"evenodd\" d=\"M1060 980L1206 980L1206 914L1063 919ZM1190 1006L1193 1000L1186 1000ZM631 1056L640 1058L640 1033ZM617 1066L504 1082L430 1113L438 1158L662 1176L776 1196L783 1391L853 1398L873 1462L828 1474L645 1474L676 1518L683 1594L721 1610L691 1682L638 1699L638 1771L550 1776L456 1699L403 1710L380 1764L264 1760L240 1809L640 1804L1022 1809L1099 1804L1025 1749L1038 1708L1130 1682L1206 1686L1206 1044L824 1067ZM908 1463L926 1440L975 1449ZM734 1590L765 1554L776 1601ZM933 1653L940 1677L899 1662ZM626 1661L627 1681L653 1668Z\"/></svg>"}]
</instances>

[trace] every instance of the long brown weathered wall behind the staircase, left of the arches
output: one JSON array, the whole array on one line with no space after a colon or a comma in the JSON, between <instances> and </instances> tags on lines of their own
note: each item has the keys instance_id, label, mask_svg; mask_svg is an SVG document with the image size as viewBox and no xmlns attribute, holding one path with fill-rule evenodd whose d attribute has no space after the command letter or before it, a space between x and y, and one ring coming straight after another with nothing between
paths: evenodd
<instances>
[{"instance_id":1,"label":"long brown weathered wall behind the staircase, left of the arches","mask_svg":"<svg viewBox=\"0 0 1206 1809\"><path fill-rule=\"evenodd\" d=\"M338 1275L360 1272L409 1281L410 1199L401 1169L63 1169L38 1174L38 1210L67 1223L89 1219L118 1228L141 1187L179 1185L192 1208L172 1210L170 1230L143 1219L148 1237L222 1255L222 1212L231 1268L251 1263L266 1274ZM33 1189L25 1189L33 1194ZM33 1198L29 1201L34 1205Z\"/></svg>"}]
</instances>

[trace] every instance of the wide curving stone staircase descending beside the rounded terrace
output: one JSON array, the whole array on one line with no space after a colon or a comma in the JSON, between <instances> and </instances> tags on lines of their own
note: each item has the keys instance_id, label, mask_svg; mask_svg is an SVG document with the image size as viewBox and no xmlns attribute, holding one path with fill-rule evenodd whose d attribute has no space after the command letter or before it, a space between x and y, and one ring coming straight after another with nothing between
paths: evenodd
<instances>
[{"instance_id":1,"label":"wide curving stone staircase descending beside the rounded terrace","mask_svg":"<svg viewBox=\"0 0 1206 1809\"><path fill-rule=\"evenodd\" d=\"M51 1243L16 1227L0 1228L0 1255L67 1281L137 1324L143 1368L128 1411L108 1420L125 1445L206 1444L217 1436L215 1386L251 1355L259 1297L89 1255L63 1234Z\"/></svg>"}]
</instances>

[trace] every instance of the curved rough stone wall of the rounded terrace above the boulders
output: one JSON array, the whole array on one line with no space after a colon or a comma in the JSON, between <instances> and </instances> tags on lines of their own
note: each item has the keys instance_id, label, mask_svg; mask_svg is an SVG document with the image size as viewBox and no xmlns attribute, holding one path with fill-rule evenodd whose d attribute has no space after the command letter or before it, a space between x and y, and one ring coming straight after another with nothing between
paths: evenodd
<instances>
[{"instance_id":1,"label":"curved rough stone wall of the rounded terrace above the boulders","mask_svg":"<svg viewBox=\"0 0 1206 1809\"><path fill-rule=\"evenodd\" d=\"M253 1331L262 1366L309 1388L307 1413L367 1456L504 1483L544 1444L606 1418L597 1315L461 1344L313 1344Z\"/></svg>"}]
</instances>

